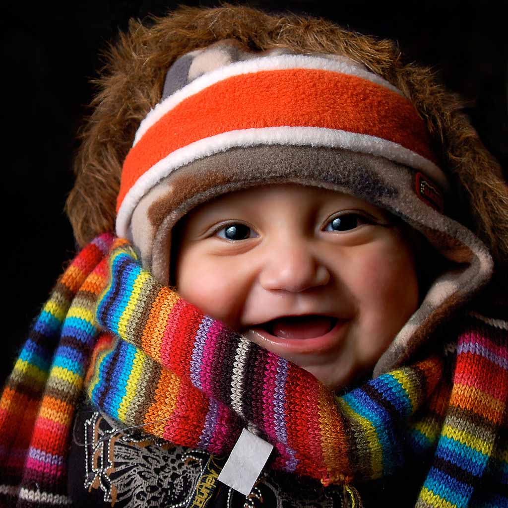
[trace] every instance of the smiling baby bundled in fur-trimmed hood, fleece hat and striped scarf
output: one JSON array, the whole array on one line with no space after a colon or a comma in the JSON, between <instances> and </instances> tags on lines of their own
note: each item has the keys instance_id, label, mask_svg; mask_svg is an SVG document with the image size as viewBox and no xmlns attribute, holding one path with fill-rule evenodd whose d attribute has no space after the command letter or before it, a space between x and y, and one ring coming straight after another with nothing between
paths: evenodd
<instances>
[{"instance_id":1,"label":"smiling baby bundled in fur-trimmed hood, fleece hat and striped scarf","mask_svg":"<svg viewBox=\"0 0 508 508\"><path fill-rule=\"evenodd\" d=\"M0 401L0 504L508 502L495 161L395 46L301 23L181 8L118 42L84 248Z\"/></svg>"}]
</instances>

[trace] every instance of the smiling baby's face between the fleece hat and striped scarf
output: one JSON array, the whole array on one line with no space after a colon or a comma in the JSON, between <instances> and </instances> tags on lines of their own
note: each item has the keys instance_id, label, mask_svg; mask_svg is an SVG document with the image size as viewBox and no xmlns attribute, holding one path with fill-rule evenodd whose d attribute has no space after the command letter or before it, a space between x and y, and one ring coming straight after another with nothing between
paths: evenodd
<instances>
[{"instance_id":1,"label":"smiling baby's face between the fleece hat and striped scarf","mask_svg":"<svg viewBox=\"0 0 508 508\"><path fill-rule=\"evenodd\" d=\"M180 296L335 390L372 369L418 307L410 246L354 196L254 187L177 229Z\"/></svg>"}]
</instances>

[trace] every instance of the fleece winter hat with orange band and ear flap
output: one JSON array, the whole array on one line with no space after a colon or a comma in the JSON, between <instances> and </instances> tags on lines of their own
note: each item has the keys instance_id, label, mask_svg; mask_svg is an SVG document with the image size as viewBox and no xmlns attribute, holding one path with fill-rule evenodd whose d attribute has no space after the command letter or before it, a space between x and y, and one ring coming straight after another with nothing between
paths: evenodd
<instances>
[{"instance_id":1,"label":"fleece winter hat with orange band and ear flap","mask_svg":"<svg viewBox=\"0 0 508 508\"><path fill-rule=\"evenodd\" d=\"M405 361L442 318L485 284L485 245L447 215L447 177L404 94L341 55L252 52L218 41L180 56L125 158L116 233L169 282L171 231L216 196L293 182L350 193L420 231L454 262L376 371Z\"/></svg>"}]
</instances>

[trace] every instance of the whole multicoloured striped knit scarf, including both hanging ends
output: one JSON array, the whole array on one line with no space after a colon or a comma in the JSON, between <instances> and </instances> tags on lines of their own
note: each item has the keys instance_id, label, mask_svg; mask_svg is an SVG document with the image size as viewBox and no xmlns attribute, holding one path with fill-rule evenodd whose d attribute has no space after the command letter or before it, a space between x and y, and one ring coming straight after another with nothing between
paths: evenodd
<instances>
[{"instance_id":1,"label":"whole multicoloured striped knit scarf, including both hanging ends","mask_svg":"<svg viewBox=\"0 0 508 508\"><path fill-rule=\"evenodd\" d=\"M417 506L507 506L506 332L469 320L448 349L336 397L102 235L58 280L3 392L0 505L70 504L86 389L105 414L183 446L225 454L248 426L274 444L271 467L324 485L382 478L417 456L429 464Z\"/></svg>"}]
</instances>

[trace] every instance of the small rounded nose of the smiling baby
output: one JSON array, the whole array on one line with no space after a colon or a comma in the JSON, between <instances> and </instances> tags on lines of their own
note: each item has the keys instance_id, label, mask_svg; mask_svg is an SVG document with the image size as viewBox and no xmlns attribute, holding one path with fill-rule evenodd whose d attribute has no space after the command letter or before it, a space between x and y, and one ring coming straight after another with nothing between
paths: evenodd
<instances>
[{"instance_id":1,"label":"small rounded nose of the smiling baby","mask_svg":"<svg viewBox=\"0 0 508 508\"><path fill-rule=\"evenodd\" d=\"M260 274L261 286L267 291L299 293L326 285L330 272L304 243L277 245L271 249Z\"/></svg>"}]
</instances>

